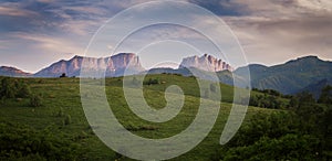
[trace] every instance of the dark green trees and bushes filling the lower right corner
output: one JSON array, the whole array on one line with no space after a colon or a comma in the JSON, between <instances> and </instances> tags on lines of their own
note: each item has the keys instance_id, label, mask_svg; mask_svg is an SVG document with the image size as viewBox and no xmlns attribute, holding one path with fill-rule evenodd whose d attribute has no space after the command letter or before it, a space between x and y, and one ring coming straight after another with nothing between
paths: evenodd
<instances>
[{"instance_id":1,"label":"dark green trees and bushes filling the lower right corner","mask_svg":"<svg viewBox=\"0 0 332 161\"><path fill-rule=\"evenodd\" d=\"M317 101L307 92L293 96L288 110L253 115L211 160L331 160L331 87Z\"/></svg>"}]
</instances>

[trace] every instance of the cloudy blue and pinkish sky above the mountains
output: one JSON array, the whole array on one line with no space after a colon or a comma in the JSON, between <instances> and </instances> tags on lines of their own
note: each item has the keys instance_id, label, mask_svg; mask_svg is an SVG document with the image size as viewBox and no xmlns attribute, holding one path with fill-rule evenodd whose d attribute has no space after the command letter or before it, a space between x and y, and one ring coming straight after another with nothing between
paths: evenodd
<instances>
[{"instance_id":1,"label":"cloudy blue and pinkish sky above the mountains","mask_svg":"<svg viewBox=\"0 0 332 161\"><path fill-rule=\"evenodd\" d=\"M305 55L332 60L331 0L183 1L197 4L224 20L238 39L248 63L270 66ZM145 2L149 0L0 0L0 66L34 73L56 61L84 55L96 31L105 25L104 29L112 32L94 37L100 41L95 42L95 49L87 50L90 54L98 53L98 50L134 52L138 53L144 67L158 66L165 63L163 61L176 64L183 56L204 53L219 57L218 51L209 47L207 37L181 25L142 28L124 39L122 44L127 45L117 45L116 31L145 22L145 18L128 18L131 23L127 24L110 23L110 20ZM141 10L145 11L144 8ZM181 11L179 7L168 13ZM166 14L167 11L157 10L147 17L158 20ZM180 20L180 15L174 19ZM208 26L209 32L222 37L222 33L214 28L215 22L209 20L212 19L197 13L186 22ZM219 58L227 60L227 54ZM235 67L241 65L234 64Z\"/></svg>"}]
</instances>

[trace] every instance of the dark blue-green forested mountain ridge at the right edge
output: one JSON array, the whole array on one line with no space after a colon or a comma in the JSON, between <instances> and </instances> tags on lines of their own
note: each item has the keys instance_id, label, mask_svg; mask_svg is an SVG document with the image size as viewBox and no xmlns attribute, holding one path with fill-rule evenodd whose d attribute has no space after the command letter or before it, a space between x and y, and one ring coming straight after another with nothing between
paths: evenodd
<instances>
[{"instance_id":1,"label":"dark blue-green forested mountain ridge at the right edge","mask_svg":"<svg viewBox=\"0 0 332 161\"><path fill-rule=\"evenodd\" d=\"M332 62L318 56L305 56L276 66L249 65L251 86L259 89L276 89L282 94L295 94L310 84L332 79ZM243 72L240 67L234 73Z\"/></svg>"}]
</instances>

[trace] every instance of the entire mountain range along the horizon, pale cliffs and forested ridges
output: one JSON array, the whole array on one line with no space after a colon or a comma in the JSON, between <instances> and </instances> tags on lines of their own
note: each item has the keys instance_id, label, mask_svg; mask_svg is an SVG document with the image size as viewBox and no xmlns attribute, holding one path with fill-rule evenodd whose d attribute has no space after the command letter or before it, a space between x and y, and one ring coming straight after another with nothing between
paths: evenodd
<instances>
[{"instance_id":1,"label":"entire mountain range along the horizon, pale cliffs and forested ridges","mask_svg":"<svg viewBox=\"0 0 332 161\"><path fill-rule=\"evenodd\" d=\"M83 57L74 56L69 61L61 60L35 74L24 73L14 67L0 67L0 75L17 77L59 77L62 73L68 76L80 76L82 64L84 69L91 72L106 71L106 77L123 76L126 74L162 74L173 73L184 76L191 76L193 71L201 74L203 79L212 79L216 73L219 80L232 85L234 78L238 80L246 67L250 69L251 86L259 89L276 89L282 94L297 94L309 90L315 96L324 85L332 85L332 62L322 61L318 56L305 56L289 61L284 64L264 66L251 64L246 67L234 69L229 64L211 55L190 56L183 58L177 69L173 68L152 68L146 71L142 67L139 58L133 53L120 53L111 57ZM200 74L199 74L200 75ZM101 75L102 76L102 75Z\"/></svg>"}]
</instances>

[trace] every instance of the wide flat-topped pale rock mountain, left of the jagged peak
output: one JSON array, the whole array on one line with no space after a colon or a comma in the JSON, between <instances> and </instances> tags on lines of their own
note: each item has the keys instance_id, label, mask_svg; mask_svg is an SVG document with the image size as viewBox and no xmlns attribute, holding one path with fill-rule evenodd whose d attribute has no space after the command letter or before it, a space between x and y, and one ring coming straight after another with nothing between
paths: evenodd
<instances>
[{"instance_id":1,"label":"wide flat-topped pale rock mountain, left of the jagged peak","mask_svg":"<svg viewBox=\"0 0 332 161\"><path fill-rule=\"evenodd\" d=\"M68 76L80 76L82 64L84 64L84 71L102 74L105 72L105 76L122 76L127 67L126 74L135 74L144 71L139 63L138 56L133 53L120 53L111 57L83 57L74 56L69 61L61 60L49 67L35 73L35 77L59 77L62 73ZM102 76L102 75L100 75Z\"/></svg>"}]
</instances>

